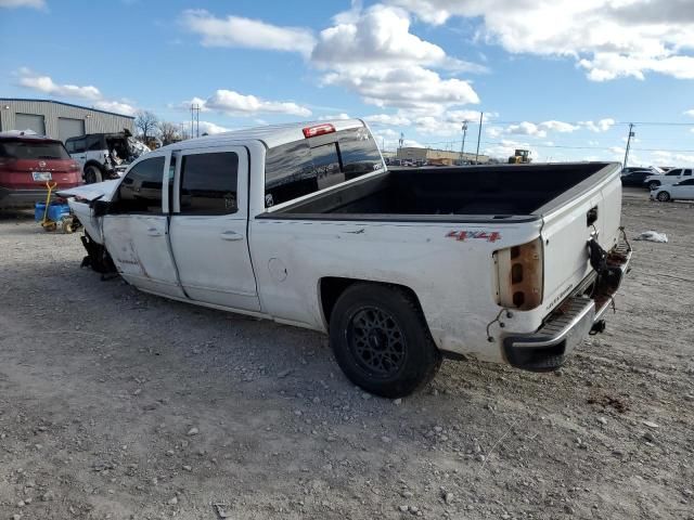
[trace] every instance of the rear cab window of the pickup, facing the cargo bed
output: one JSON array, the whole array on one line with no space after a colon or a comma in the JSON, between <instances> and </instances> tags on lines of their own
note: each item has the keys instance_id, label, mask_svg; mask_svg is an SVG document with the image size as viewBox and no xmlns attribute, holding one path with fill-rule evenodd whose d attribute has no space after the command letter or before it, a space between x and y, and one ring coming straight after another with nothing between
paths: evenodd
<instances>
[{"instance_id":1,"label":"rear cab window of the pickup, facing the cargo bed","mask_svg":"<svg viewBox=\"0 0 694 520\"><path fill-rule=\"evenodd\" d=\"M268 150L266 207L370 173L383 166L365 128L304 139Z\"/></svg>"}]
</instances>

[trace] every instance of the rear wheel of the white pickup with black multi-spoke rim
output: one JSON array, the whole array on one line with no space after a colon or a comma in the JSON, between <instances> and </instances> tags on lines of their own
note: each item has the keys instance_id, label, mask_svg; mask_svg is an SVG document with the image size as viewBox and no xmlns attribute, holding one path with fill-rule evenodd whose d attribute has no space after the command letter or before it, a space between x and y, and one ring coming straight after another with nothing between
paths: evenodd
<instances>
[{"instance_id":1,"label":"rear wheel of the white pickup with black multi-spoke rim","mask_svg":"<svg viewBox=\"0 0 694 520\"><path fill-rule=\"evenodd\" d=\"M442 356L419 304L403 289L355 284L330 320L337 364L355 385L384 398L402 398L429 382Z\"/></svg>"}]
</instances>

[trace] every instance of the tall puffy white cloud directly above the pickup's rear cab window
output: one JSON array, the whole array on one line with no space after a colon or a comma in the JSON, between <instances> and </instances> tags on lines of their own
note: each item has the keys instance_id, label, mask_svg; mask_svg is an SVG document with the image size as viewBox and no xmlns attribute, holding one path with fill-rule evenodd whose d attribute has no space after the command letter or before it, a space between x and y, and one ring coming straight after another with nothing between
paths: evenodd
<instances>
[{"instance_id":1,"label":"tall puffy white cloud directly above the pickup's rear cab window","mask_svg":"<svg viewBox=\"0 0 694 520\"><path fill-rule=\"evenodd\" d=\"M406 11L383 4L361 10L357 2L334 22L321 31L311 53L311 62L327 70L323 84L343 87L371 105L421 115L479 102L467 81L445 79L427 68L460 70L471 64L410 32Z\"/></svg>"}]
</instances>

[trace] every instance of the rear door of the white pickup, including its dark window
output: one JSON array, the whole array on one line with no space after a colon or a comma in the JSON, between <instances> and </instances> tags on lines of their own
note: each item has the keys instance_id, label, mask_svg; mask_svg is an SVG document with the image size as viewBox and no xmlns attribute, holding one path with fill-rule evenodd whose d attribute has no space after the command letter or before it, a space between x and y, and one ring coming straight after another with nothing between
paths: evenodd
<instances>
[{"instance_id":1,"label":"rear door of the white pickup, including its dark window","mask_svg":"<svg viewBox=\"0 0 694 520\"><path fill-rule=\"evenodd\" d=\"M248 155L243 146L176 157L170 242L181 287L192 300L259 311L248 250Z\"/></svg>"}]
</instances>

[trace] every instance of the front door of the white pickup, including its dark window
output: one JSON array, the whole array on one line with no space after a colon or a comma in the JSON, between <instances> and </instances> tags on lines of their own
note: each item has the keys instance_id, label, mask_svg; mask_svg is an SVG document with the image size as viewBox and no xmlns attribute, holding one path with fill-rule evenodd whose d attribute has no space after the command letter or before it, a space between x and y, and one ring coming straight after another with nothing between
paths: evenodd
<instances>
[{"instance_id":1,"label":"front door of the white pickup, including its dark window","mask_svg":"<svg viewBox=\"0 0 694 520\"><path fill-rule=\"evenodd\" d=\"M168 154L152 153L130 168L103 218L103 234L125 280L143 290L184 298L167 236L168 162Z\"/></svg>"}]
</instances>

